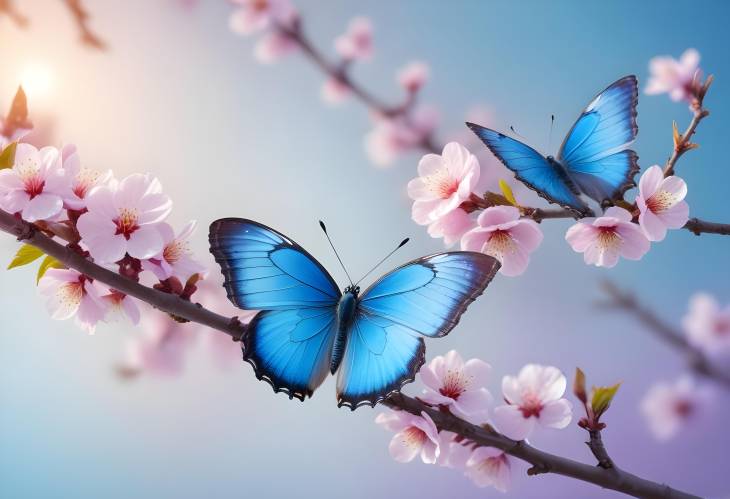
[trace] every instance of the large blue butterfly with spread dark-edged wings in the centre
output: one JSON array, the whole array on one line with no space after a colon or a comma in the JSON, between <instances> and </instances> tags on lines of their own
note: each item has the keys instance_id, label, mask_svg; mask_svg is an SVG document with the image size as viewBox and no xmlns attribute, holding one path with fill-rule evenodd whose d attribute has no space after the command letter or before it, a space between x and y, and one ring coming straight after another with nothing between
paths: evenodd
<instances>
[{"instance_id":1,"label":"large blue butterfly with spread dark-edged wings in the centre","mask_svg":"<svg viewBox=\"0 0 730 499\"><path fill-rule=\"evenodd\" d=\"M210 226L228 298L260 310L243 357L274 391L304 400L338 369L339 406L374 406L415 378L422 336L446 335L499 269L482 253L439 253L340 293L322 265L283 234L251 220Z\"/></svg>"}]
</instances>

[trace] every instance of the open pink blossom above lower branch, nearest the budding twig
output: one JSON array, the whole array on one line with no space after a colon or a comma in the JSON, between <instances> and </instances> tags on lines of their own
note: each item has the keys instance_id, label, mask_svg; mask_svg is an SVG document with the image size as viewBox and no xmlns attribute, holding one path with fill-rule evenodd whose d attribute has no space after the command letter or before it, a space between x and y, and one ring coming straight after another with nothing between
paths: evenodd
<instances>
[{"instance_id":1,"label":"open pink blossom above lower branch, nearest the budding twig","mask_svg":"<svg viewBox=\"0 0 730 499\"><path fill-rule=\"evenodd\" d=\"M507 402L494 409L492 419L499 431L511 439L524 440L536 425L565 428L573 416L565 398L566 379L552 366L528 364L517 377L502 378L502 394Z\"/></svg>"}]
</instances>

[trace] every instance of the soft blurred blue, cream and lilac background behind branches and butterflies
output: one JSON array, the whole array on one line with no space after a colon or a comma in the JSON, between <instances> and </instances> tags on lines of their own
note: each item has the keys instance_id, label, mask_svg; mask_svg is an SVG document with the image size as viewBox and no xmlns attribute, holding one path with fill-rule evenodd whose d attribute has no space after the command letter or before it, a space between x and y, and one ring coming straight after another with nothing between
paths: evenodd
<instances>
[{"instance_id":1,"label":"soft blurred blue, cream and lilac background behind branches and butterflies","mask_svg":"<svg viewBox=\"0 0 730 499\"><path fill-rule=\"evenodd\" d=\"M491 107L490 123L514 124L545 148L551 113L554 143L600 89L648 60L687 47L717 80L701 148L680 161L694 215L728 221L727 123L730 59L724 2L295 2L306 29L331 54L331 40L354 15L375 26L376 56L355 76L389 101L401 95L394 71L414 58L433 77L423 91L440 107L441 137L461 131L473 104ZM361 274L405 235L412 243L390 262L441 249L410 219L407 181L418 155L378 170L363 150L371 124L356 102L329 109L322 76L295 55L259 65L252 41L229 32L230 7L204 1L88 0L107 53L81 47L60 2L27 0L30 29L0 18L0 109L6 110L29 65L46 68L48 88L29 89L35 121L54 143L75 142L86 165L118 176L158 175L175 200L172 220L207 224L244 216L272 225L316 255L344 283L317 227L327 221L351 273ZM642 167L663 162L671 122L686 126L683 104L640 97ZM675 231L640 262L589 268L563 240L569 221L543 224L545 241L519 278L498 277L449 337L428 343L429 358L458 349L504 374L527 362L576 365L589 383L622 380L605 431L619 466L709 497L730 493L727 413L713 410L669 443L647 432L638 404L658 380L674 380L682 359L630 318L597 306L597 283L610 276L632 287L667 320L678 322L697 290L730 300L730 238ZM17 248L0 235L0 260ZM491 497L453 470L397 464L390 435L373 424L378 410L337 409L329 379L304 404L274 395L241 364L229 371L193 352L183 376L123 383L113 366L132 328L102 325L87 336L52 321L36 295L34 270L2 273L0 306L0 496L73 498L197 497ZM235 347L233 347L235 348ZM416 393L416 386L406 389ZM545 431L540 448L585 462L585 433L571 425ZM512 497L610 497L559 476L522 476Z\"/></svg>"}]
</instances>

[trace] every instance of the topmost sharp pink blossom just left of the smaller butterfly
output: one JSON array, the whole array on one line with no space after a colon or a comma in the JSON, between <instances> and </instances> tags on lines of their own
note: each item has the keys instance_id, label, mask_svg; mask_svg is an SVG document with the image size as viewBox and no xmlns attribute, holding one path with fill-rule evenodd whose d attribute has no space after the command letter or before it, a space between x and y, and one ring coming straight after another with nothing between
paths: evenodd
<instances>
[{"instance_id":1,"label":"topmost sharp pink blossom just left of the smaller butterfly","mask_svg":"<svg viewBox=\"0 0 730 499\"><path fill-rule=\"evenodd\" d=\"M455 210L478 181L479 161L461 144L449 142L441 155L426 154L418 162L418 177L408 182L413 220L425 225Z\"/></svg>"}]
</instances>

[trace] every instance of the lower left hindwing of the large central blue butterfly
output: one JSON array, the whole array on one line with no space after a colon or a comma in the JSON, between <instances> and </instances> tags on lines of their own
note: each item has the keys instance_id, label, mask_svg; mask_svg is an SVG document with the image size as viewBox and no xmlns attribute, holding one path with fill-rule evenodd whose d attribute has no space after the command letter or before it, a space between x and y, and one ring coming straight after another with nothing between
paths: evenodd
<instances>
[{"instance_id":1,"label":"lower left hindwing of the large central blue butterfly","mask_svg":"<svg viewBox=\"0 0 730 499\"><path fill-rule=\"evenodd\" d=\"M304 400L327 377L336 331L334 307L264 310L249 323L243 358L275 392Z\"/></svg>"}]
</instances>

